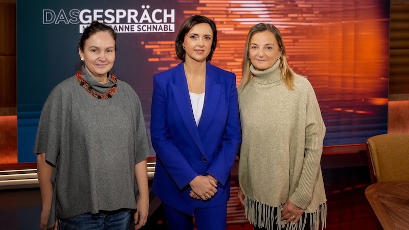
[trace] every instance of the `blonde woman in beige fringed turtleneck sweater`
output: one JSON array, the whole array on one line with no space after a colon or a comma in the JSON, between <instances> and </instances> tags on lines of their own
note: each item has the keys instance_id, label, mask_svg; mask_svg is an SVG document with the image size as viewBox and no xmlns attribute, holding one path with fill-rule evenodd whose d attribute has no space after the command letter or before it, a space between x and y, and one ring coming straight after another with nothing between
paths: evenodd
<instances>
[{"instance_id":1,"label":"blonde woman in beige fringed turtleneck sweater","mask_svg":"<svg viewBox=\"0 0 409 230\"><path fill-rule=\"evenodd\" d=\"M244 53L238 198L245 216L255 229L324 228L325 125L314 90L288 66L275 26L253 26Z\"/></svg>"}]
</instances>

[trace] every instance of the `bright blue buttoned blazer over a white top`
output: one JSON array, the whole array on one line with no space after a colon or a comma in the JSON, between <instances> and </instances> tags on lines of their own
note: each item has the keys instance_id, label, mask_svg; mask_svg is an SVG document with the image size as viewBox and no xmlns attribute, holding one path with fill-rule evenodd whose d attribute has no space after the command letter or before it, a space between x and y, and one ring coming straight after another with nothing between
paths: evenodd
<instances>
[{"instance_id":1,"label":"bright blue buttoned blazer over a white top","mask_svg":"<svg viewBox=\"0 0 409 230\"><path fill-rule=\"evenodd\" d=\"M230 171L240 143L236 75L206 63L205 103L199 125L193 117L183 62L153 76L151 138L156 152L152 191L162 202L193 215L230 198ZM217 193L202 201L189 196L197 175L218 180Z\"/></svg>"}]
</instances>

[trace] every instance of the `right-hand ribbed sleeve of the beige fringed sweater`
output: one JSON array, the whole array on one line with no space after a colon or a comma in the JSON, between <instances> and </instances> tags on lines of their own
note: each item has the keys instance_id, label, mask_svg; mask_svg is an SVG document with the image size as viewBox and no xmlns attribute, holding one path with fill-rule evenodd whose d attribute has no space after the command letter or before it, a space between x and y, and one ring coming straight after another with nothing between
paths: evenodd
<instances>
[{"instance_id":1,"label":"right-hand ribbed sleeve of the beige fringed sweater","mask_svg":"<svg viewBox=\"0 0 409 230\"><path fill-rule=\"evenodd\" d=\"M304 161L296 191L289 200L306 209L312 199L315 183L320 175L325 125L311 84L307 88Z\"/></svg>"}]
</instances>

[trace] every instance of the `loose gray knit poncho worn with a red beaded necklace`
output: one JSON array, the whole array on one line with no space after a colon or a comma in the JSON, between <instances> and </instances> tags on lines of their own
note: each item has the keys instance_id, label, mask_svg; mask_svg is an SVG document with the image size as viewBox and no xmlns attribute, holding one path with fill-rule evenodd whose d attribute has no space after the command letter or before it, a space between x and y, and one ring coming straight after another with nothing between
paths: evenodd
<instances>
[{"instance_id":1,"label":"loose gray knit poncho worn with a red beaded necklace","mask_svg":"<svg viewBox=\"0 0 409 230\"><path fill-rule=\"evenodd\" d=\"M113 86L111 77L101 84L84 68L82 78L99 93ZM49 227L55 216L135 209L135 165L150 153L137 94L118 80L112 98L97 99L76 76L64 80L44 104L34 153L55 166Z\"/></svg>"}]
</instances>

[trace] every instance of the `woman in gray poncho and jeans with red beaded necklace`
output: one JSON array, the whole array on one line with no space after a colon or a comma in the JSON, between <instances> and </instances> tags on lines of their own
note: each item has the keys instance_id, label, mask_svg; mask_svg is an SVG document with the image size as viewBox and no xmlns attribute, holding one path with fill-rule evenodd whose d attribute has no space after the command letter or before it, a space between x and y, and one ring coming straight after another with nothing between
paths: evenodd
<instances>
[{"instance_id":1,"label":"woman in gray poncho and jeans with red beaded necklace","mask_svg":"<svg viewBox=\"0 0 409 230\"><path fill-rule=\"evenodd\" d=\"M149 142L140 100L110 70L116 33L94 21L80 39L83 67L41 111L34 153L41 229L128 230L147 220Z\"/></svg>"}]
</instances>

